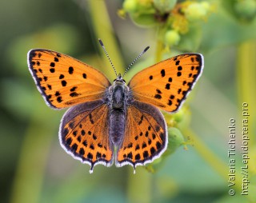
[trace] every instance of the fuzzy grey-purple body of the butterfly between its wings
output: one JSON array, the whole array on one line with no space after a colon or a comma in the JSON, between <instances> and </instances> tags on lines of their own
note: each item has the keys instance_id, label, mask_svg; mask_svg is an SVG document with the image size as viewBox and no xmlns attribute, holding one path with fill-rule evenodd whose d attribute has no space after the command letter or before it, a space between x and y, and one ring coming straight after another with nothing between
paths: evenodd
<instances>
[{"instance_id":1,"label":"fuzzy grey-purple body of the butterfly between its wings","mask_svg":"<svg viewBox=\"0 0 256 203\"><path fill-rule=\"evenodd\" d=\"M120 80L109 89L110 139L114 146L119 146L124 137L128 93L129 88Z\"/></svg>"}]
</instances>

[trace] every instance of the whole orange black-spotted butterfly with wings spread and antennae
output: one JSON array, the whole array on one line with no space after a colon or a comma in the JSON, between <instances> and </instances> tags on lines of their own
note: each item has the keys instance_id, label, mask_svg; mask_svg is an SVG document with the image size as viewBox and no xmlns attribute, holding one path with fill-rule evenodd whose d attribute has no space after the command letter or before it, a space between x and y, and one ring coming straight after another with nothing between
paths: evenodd
<instances>
[{"instance_id":1,"label":"whole orange black-spotted butterfly with wings spread and antennae","mask_svg":"<svg viewBox=\"0 0 256 203\"><path fill-rule=\"evenodd\" d=\"M99 42L106 53L102 41ZM134 62L149 49L135 58ZM202 54L181 54L135 74L128 85L125 73L111 85L100 71L52 50L28 52L28 66L47 105L70 107L59 127L62 148L75 159L101 164L146 165L167 147L167 125L159 109L180 109L203 70ZM110 60L113 66L113 63Z\"/></svg>"}]
</instances>

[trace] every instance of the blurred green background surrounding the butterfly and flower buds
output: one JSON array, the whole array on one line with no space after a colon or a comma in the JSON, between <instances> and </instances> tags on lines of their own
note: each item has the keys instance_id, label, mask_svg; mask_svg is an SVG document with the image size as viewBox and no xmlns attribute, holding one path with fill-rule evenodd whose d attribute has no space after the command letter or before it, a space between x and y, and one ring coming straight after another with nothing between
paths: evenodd
<instances>
[{"instance_id":1,"label":"blurred green background surrounding the butterfly and flower buds","mask_svg":"<svg viewBox=\"0 0 256 203\"><path fill-rule=\"evenodd\" d=\"M45 104L27 68L26 54L34 48L69 54L113 81L98 38L121 73L150 46L128 72L128 81L159 58L157 29L136 25L129 16L120 18L123 1L118 0L1 1L1 202L256 202L255 10L247 18L241 10L234 12L239 1L205 2L213 10L192 30L194 38L182 37L190 45L169 47L170 52L161 56L196 51L205 57L202 78L182 114L190 126L181 127L190 139L188 150L180 147L165 157L155 173L139 166L133 174L129 165L97 165L89 174L89 165L74 160L59 145L58 125L65 110L54 111ZM250 109L249 196L240 195L242 102ZM237 126L234 197L228 194L230 118Z\"/></svg>"}]
</instances>

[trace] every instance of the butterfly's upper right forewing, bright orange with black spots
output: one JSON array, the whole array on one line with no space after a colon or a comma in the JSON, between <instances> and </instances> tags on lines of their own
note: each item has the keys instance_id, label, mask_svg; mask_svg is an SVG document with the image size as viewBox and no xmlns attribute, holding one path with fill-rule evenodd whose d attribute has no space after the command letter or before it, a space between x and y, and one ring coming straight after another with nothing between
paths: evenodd
<instances>
[{"instance_id":1,"label":"butterfly's upper right forewing, bright orange with black spots","mask_svg":"<svg viewBox=\"0 0 256 203\"><path fill-rule=\"evenodd\" d=\"M142 70L130 80L135 100L177 111L202 74L201 54L181 54Z\"/></svg>"}]
</instances>

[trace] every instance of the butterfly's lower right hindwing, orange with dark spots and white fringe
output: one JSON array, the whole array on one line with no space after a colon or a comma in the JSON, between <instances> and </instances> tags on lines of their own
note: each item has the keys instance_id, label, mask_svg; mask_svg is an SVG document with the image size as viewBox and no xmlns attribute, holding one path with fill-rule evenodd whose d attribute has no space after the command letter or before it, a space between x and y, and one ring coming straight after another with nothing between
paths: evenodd
<instances>
[{"instance_id":1,"label":"butterfly's lower right hindwing, orange with dark spots and white fringe","mask_svg":"<svg viewBox=\"0 0 256 203\"><path fill-rule=\"evenodd\" d=\"M116 165L145 165L161 156L167 146L166 121L153 105L132 102L127 109L126 129Z\"/></svg>"}]
</instances>

